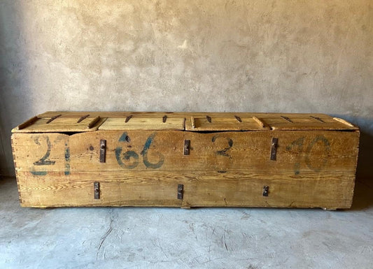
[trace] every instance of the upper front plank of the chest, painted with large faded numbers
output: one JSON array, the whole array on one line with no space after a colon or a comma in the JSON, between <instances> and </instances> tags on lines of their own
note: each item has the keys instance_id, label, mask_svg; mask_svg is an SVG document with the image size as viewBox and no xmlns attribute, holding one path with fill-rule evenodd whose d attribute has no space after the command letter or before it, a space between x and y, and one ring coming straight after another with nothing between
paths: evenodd
<instances>
[{"instance_id":1,"label":"upper front plank of the chest, painted with large faded numbers","mask_svg":"<svg viewBox=\"0 0 373 269\"><path fill-rule=\"evenodd\" d=\"M279 140L276 161L270 159L272 138ZM64 169L64 153L68 149L71 171L247 170L281 173L291 170L297 176L309 171L318 175L330 171L354 175L358 138L358 131L97 131L72 136L16 133L13 144L16 169L23 171ZM105 163L99 162L101 139L106 140ZM184 140L190 140L189 155L184 155ZM48 153L48 143L48 159L54 164L36 166L36 161Z\"/></svg>"}]
</instances>

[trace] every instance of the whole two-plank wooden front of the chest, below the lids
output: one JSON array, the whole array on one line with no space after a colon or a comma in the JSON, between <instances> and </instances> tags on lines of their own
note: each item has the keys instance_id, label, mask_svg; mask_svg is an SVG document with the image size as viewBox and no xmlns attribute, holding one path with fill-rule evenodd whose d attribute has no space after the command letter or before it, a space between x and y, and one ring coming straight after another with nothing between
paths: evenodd
<instances>
[{"instance_id":1,"label":"whole two-plank wooden front of the chest, below the lids","mask_svg":"<svg viewBox=\"0 0 373 269\"><path fill-rule=\"evenodd\" d=\"M26 206L349 208L358 137L358 131L93 131L14 133L12 143Z\"/></svg>"}]
</instances>

